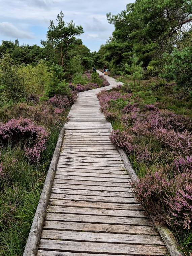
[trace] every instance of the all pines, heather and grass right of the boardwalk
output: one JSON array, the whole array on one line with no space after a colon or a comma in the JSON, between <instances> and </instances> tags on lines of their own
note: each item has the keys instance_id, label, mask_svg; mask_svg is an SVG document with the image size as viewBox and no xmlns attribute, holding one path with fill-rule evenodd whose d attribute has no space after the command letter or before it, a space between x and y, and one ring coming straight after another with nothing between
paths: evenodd
<instances>
[{"instance_id":1,"label":"all pines, heather and grass right of the boardwalk","mask_svg":"<svg viewBox=\"0 0 192 256\"><path fill-rule=\"evenodd\" d=\"M139 176L139 202L175 234L192 255L192 75L189 1L144 1L107 14L113 35L97 66L123 86L98 94L114 131ZM102 71L102 70L101 70Z\"/></svg>"}]
</instances>

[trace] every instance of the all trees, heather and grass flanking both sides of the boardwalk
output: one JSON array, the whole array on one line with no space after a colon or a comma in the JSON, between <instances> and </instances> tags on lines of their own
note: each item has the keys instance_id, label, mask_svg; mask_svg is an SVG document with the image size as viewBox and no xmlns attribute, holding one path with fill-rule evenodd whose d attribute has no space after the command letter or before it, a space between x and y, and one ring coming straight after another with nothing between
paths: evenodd
<instances>
[{"instance_id":1,"label":"all trees, heather and grass flanking both sides of the boardwalk","mask_svg":"<svg viewBox=\"0 0 192 256\"><path fill-rule=\"evenodd\" d=\"M58 134L78 92L105 87L88 67L123 86L98 94L110 139L139 176L137 199L192 254L192 4L136 0L90 53L82 26L50 22L43 47L0 45L0 254L22 255Z\"/></svg>"}]
</instances>

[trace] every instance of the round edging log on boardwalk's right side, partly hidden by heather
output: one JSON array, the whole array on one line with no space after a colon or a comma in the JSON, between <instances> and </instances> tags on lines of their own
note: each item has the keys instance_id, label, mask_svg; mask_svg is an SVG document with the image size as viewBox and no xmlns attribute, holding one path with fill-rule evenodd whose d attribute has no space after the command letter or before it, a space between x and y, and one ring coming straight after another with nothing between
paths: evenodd
<instances>
[{"instance_id":1,"label":"round edging log on boardwalk's right side, partly hidden by heather","mask_svg":"<svg viewBox=\"0 0 192 256\"><path fill-rule=\"evenodd\" d=\"M122 161L125 165L125 168L132 180L133 183L138 183L139 179L138 176L135 172L135 170L133 169L129 158L126 154L126 152L122 149L118 147L118 151L121 155ZM155 221L155 219L153 217L151 217L159 234L161 235L161 238L163 239L163 242L165 243L169 253L171 256L184 256L180 251L179 251L179 245L177 243L177 241L174 239L173 234L171 233L171 231L163 224Z\"/></svg>"}]
</instances>

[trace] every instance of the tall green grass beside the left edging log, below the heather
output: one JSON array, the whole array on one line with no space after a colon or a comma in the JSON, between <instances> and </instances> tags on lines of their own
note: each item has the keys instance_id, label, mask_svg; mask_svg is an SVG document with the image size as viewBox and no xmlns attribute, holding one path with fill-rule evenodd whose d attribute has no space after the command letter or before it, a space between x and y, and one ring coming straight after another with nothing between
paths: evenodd
<instances>
[{"instance_id":1,"label":"tall green grass beside the left edging log, below the heather","mask_svg":"<svg viewBox=\"0 0 192 256\"><path fill-rule=\"evenodd\" d=\"M61 127L53 127L38 164L30 163L19 145L1 148L0 158L7 166L6 175L0 179L1 256L23 255Z\"/></svg>"}]
</instances>

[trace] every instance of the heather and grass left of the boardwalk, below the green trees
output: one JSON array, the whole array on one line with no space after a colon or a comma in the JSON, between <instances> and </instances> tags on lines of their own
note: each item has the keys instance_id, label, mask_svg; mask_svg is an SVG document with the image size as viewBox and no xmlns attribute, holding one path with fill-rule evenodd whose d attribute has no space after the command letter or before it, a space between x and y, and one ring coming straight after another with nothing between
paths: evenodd
<instances>
[{"instance_id":1,"label":"heather and grass left of the boardwalk, below the green trees","mask_svg":"<svg viewBox=\"0 0 192 256\"><path fill-rule=\"evenodd\" d=\"M71 96L0 108L0 254L22 255L59 132L68 120ZM13 119L13 120L11 120ZM46 148L46 149L45 149Z\"/></svg>"}]
</instances>

